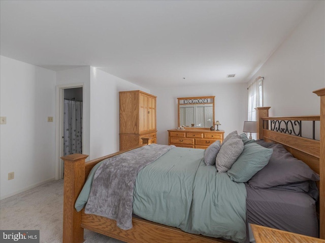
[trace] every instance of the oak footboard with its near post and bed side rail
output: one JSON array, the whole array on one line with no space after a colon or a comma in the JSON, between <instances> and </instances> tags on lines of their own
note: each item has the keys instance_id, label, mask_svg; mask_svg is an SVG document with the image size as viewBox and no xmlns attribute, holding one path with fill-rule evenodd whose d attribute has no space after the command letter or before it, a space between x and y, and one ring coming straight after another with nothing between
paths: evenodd
<instances>
[{"instance_id":1,"label":"oak footboard with its near post and bed side rail","mask_svg":"<svg viewBox=\"0 0 325 243\"><path fill-rule=\"evenodd\" d=\"M229 243L226 240L189 234L174 227L139 218L132 219L132 229L122 230L116 226L115 220L93 214L85 214L84 209L77 212L75 209L75 201L91 169L100 161L129 150L132 149L119 151L88 162L85 162L88 155L84 154L71 154L61 157L64 160L63 243L83 242L84 228L125 242Z\"/></svg>"}]
</instances>

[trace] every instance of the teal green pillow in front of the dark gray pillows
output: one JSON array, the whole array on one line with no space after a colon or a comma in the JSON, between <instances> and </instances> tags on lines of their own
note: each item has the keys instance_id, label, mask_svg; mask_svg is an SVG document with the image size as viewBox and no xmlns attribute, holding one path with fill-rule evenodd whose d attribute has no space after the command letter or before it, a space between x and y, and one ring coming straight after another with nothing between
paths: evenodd
<instances>
[{"instance_id":1,"label":"teal green pillow in front of the dark gray pillows","mask_svg":"<svg viewBox=\"0 0 325 243\"><path fill-rule=\"evenodd\" d=\"M255 142L244 144L244 150L232 168L227 172L235 182L247 182L269 162L273 149L262 147Z\"/></svg>"}]
</instances>

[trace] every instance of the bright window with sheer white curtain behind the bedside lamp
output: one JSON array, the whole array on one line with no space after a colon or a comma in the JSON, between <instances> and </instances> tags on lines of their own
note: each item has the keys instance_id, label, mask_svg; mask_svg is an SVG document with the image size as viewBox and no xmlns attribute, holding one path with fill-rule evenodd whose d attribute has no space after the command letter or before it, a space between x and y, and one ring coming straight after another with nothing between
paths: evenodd
<instances>
[{"instance_id":1,"label":"bright window with sheer white curtain behind the bedside lamp","mask_svg":"<svg viewBox=\"0 0 325 243\"><path fill-rule=\"evenodd\" d=\"M263 106L263 80L264 77L257 77L255 81L247 88L248 90L248 120L256 121L256 107ZM256 133L252 134L256 139Z\"/></svg>"}]
</instances>

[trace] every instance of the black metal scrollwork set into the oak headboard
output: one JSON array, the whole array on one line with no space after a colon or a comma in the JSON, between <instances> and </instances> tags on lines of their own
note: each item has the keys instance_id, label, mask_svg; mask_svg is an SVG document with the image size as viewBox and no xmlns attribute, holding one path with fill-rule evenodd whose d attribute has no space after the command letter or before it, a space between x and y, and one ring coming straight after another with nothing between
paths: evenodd
<instances>
[{"instance_id":1,"label":"black metal scrollwork set into the oak headboard","mask_svg":"<svg viewBox=\"0 0 325 243\"><path fill-rule=\"evenodd\" d=\"M301 137L301 120L271 120L270 130Z\"/></svg>"}]
</instances>

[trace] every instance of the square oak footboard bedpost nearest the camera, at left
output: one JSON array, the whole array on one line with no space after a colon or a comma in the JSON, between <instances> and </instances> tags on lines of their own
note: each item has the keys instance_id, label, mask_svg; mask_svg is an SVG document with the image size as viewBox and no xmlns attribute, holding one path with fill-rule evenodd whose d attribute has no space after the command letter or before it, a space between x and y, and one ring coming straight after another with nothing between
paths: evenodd
<instances>
[{"instance_id":1,"label":"square oak footboard bedpost nearest the camera, at left","mask_svg":"<svg viewBox=\"0 0 325 243\"><path fill-rule=\"evenodd\" d=\"M85 160L88 155L71 154L61 157L64 161L63 188L63 243L81 243L81 211L75 209L75 201L85 183Z\"/></svg>"}]
</instances>

